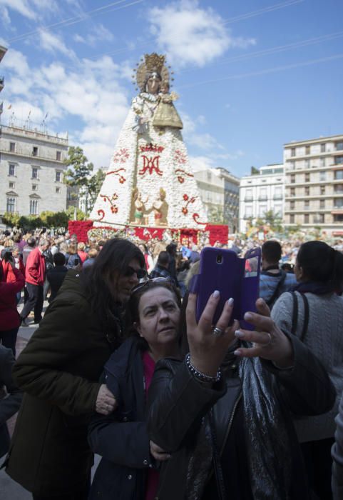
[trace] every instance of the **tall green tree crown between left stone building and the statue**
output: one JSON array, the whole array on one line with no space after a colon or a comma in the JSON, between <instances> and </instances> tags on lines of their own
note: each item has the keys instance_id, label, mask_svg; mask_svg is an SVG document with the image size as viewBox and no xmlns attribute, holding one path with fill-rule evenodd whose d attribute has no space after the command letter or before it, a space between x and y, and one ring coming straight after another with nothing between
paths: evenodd
<instances>
[{"instance_id":1,"label":"tall green tree crown between left stone building and the statue","mask_svg":"<svg viewBox=\"0 0 343 500\"><path fill-rule=\"evenodd\" d=\"M83 149L79 146L71 146L68 149L68 158L64 160L64 164L71 167L64 172L64 184L71 187L86 188L94 166L92 163L88 163L88 158L83 154Z\"/></svg>"}]
</instances>

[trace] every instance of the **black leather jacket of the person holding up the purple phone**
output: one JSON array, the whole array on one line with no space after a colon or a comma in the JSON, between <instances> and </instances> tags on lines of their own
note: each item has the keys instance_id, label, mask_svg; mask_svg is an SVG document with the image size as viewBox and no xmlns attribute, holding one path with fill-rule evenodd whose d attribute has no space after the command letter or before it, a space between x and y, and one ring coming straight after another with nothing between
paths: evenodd
<instances>
[{"instance_id":1,"label":"black leather jacket of the person holding up the purple phone","mask_svg":"<svg viewBox=\"0 0 343 500\"><path fill-rule=\"evenodd\" d=\"M309 349L295 337L292 337L292 344L295 351L293 369L278 370L268 361L262 361L262 365L271 374L275 394L287 415L293 478L292 491L287 498L305 500L308 498L307 484L291 412L296 415L324 413L334 404L335 391L327 372ZM172 457L162 465L156 499L188 498L188 464L190 461L196 464L198 460L194 452L195 434L203 416L213 406L215 434L220 438L217 443L221 453L239 397L240 379L237 377L221 380L213 389L207 389L190 374L184 361L164 359L158 362L148 394L148 431L150 439L171 452ZM190 488L203 491L201 484L206 483L208 472L199 472ZM225 470L223 472L225 474ZM201 496L195 497L201 500Z\"/></svg>"}]
</instances>

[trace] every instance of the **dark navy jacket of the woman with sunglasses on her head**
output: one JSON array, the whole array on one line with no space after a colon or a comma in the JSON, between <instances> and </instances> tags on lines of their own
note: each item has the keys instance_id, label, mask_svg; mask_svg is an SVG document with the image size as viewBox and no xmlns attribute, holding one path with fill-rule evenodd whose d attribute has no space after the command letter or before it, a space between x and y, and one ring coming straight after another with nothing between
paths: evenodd
<instances>
[{"instance_id":1,"label":"dark navy jacket of the woman with sunglasses on her head","mask_svg":"<svg viewBox=\"0 0 343 500\"><path fill-rule=\"evenodd\" d=\"M101 459L88 500L144 500L150 457L145 424L142 352L135 338L126 340L107 361L101 383L118 401L112 414L95 414L88 442Z\"/></svg>"}]
</instances>

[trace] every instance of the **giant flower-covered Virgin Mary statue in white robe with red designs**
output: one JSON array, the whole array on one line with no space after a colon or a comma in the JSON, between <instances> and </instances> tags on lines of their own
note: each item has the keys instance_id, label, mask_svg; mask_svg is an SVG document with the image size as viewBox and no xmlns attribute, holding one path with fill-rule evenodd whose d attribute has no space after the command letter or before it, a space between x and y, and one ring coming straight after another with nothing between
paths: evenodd
<instances>
[{"instance_id":1,"label":"giant flower-covered Virgin Mary statue in white robe with red designs","mask_svg":"<svg viewBox=\"0 0 343 500\"><path fill-rule=\"evenodd\" d=\"M205 211L183 142L183 123L169 92L165 56L145 54L135 71L133 98L116 149L91 213L94 225L148 225L201 229ZM133 192L146 199L141 224ZM163 193L156 224L155 206ZM148 203L149 201L149 203Z\"/></svg>"}]
</instances>

